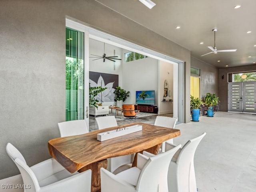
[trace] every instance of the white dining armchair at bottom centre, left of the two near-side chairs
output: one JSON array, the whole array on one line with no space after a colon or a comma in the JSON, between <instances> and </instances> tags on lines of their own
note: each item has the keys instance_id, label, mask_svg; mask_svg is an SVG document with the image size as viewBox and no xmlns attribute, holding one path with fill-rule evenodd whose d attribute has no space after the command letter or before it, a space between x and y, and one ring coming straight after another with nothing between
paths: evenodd
<instances>
[{"instance_id":1,"label":"white dining armchair at bottom centre, left of the two near-side chairs","mask_svg":"<svg viewBox=\"0 0 256 192\"><path fill-rule=\"evenodd\" d=\"M167 192L167 172L170 159L181 147L147 157L138 153L137 166L118 174L101 168L102 192Z\"/></svg>"}]
</instances>

